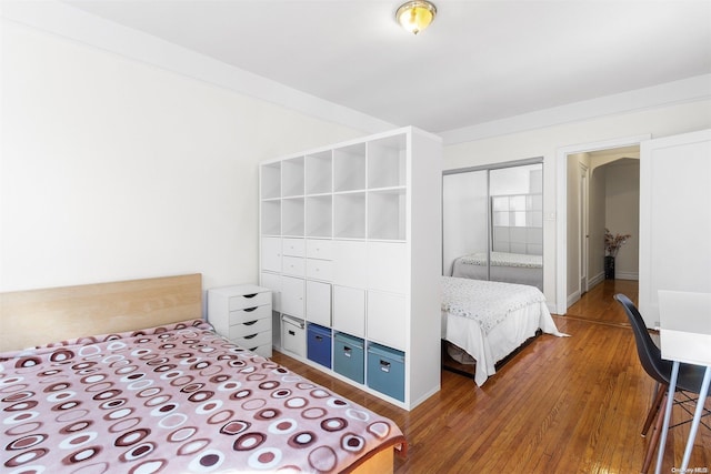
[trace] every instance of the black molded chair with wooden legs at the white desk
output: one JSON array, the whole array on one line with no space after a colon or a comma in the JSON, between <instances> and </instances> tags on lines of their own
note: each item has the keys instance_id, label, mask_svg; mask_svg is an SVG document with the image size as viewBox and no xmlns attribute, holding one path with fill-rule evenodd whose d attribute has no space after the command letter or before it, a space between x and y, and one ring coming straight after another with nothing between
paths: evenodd
<instances>
[{"instance_id":1,"label":"black molded chair with wooden legs at the white desk","mask_svg":"<svg viewBox=\"0 0 711 474\"><path fill-rule=\"evenodd\" d=\"M667 395L669 393L672 362L662 359L661 350L657 344L654 344L654 341L652 341L652 337L647 330L647 324L644 323L644 320L637 306L634 306L634 303L623 294L615 294L614 299L622 305L622 307L624 307L624 312L632 324L634 341L637 343L637 353L640 357L644 372L657 381L657 394L654 395L654 401L652 402L652 406L647 415L647 420L644 421L644 426L642 427L642 436L647 436L647 432L649 431L652 421L657 417L654 432L652 433L652 437L647 446L647 455L644 456L644 464L642 465L641 471L642 473L647 473L652 462L652 456L654 455L654 448L659 444L659 436L664 421L664 410L660 409L667 406L664 402L667 401ZM679 366L677 393L681 393L684 399L675 401L675 403L680 404L687 413L692 414L691 410L688 409L685 404L694 403L695 399L690 397L683 392L699 394L701 382L703 381L704 369L705 367L693 364L681 364ZM703 425L709 427L705 423L703 423Z\"/></svg>"}]
</instances>

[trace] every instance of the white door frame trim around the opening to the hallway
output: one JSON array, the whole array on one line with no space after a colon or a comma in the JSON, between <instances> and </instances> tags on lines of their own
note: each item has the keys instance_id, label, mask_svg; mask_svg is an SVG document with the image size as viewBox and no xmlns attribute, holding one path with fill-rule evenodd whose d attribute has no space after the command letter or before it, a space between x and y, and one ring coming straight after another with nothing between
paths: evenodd
<instances>
[{"instance_id":1,"label":"white door frame trim around the opening to the hallway","mask_svg":"<svg viewBox=\"0 0 711 474\"><path fill-rule=\"evenodd\" d=\"M651 133L604 140L591 143L580 143L562 147L557 150L555 158L555 314L568 311L568 155L588 151L607 150L611 148L639 145L652 138ZM574 243L571 243L574 244Z\"/></svg>"}]
</instances>

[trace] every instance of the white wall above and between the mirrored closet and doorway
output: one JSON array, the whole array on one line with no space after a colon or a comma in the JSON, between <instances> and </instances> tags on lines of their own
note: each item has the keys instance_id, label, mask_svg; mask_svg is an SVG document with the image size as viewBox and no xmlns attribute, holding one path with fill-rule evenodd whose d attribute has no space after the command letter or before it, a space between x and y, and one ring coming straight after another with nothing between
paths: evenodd
<instances>
[{"instance_id":1,"label":"white wall above and between the mirrored closet and doorway","mask_svg":"<svg viewBox=\"0 0 711 474\"><path fill-rule=\"evenodd\" d=\"M711 100L705 99L447 145L444 169L543 157L543 288L549 306L554 307L555 231L557 220L561 219L555 210L558 149L645 133L652 138L668 137L708 128L711 128Z\"/></svg>"}]
</instances>

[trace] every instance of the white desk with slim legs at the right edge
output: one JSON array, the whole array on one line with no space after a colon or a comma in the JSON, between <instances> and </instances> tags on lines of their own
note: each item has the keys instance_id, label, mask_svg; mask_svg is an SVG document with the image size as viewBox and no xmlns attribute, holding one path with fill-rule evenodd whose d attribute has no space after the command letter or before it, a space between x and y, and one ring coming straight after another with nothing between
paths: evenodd
<instances>
[{"instance_id":1,"label":"white desk with slim legs at the right edge","mask_svg":"<svg viewBox=\"0 0 711 474\"><path fill-rule=\"evenodd\" d=\"M703 405L709 394L709 383L711 382L711 293L660 290L659 319L662 357L673 361L673 365L669 383L669 395L667 397L664 425L662 427L659 454L657 456L655 472L658 474L661 473L662 460L664 457L664 445L667 444L671 409L674 403L677 379L679 377L679 364L683 362L687 364L705 365L707 367L691 423L691 431L689 432L689 440L687 440L684 457L681 463L680 472L685 472L689 467L693 441L697 437L697 431L701 423Z\"/></svg>"}]
</instances>

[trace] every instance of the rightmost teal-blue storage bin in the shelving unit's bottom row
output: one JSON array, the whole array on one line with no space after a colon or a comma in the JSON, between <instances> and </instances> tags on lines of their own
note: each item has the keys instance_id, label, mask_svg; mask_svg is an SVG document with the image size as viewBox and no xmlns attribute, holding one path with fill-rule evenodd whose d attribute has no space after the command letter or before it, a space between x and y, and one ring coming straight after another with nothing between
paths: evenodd
<instances>
[{"instance_id":1,"label":"rightmost teal-blue storage bin in the shelving unit's bottom row","mask_svg":"<svg viewBox=\"0 0 711 474\"><path fill-rule=\"evenodd\" d=\"M404 352L368 344L368 386L404 402Z\"/></svg>"}]
</instances>

